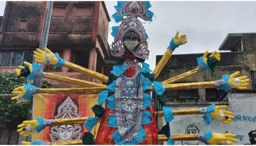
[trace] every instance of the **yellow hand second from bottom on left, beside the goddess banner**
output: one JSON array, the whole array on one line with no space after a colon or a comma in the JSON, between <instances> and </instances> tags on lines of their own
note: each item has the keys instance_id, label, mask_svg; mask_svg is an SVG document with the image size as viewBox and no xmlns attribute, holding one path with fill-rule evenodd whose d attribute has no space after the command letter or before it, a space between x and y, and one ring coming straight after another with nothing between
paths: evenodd
<instances>
[{"instance_id":1,"label":"yellow hand second from bottom on left, beside the goddess banner","mask_svg":"<svg viewBox=\"0 0 256 146\"><path fill-rule=\"evenodd\" d=\"M39 123L37 122L37 120L28 120L28 121L23 121L22 124L18 125L18 130L17 132L19 132L20 135L23 135L24 137L27 137L29 135L31 135L31 132L27 132L25 131L25 128L29 125L30 128L35 128Z\"/></svg>"}]
</instances>

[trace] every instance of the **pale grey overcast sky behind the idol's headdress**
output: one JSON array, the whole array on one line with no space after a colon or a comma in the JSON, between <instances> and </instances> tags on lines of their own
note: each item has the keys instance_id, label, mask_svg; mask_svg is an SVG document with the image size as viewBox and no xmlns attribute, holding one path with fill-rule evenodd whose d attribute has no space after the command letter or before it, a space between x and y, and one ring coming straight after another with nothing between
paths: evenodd
<instances>
[{"instance_id":1,"label":"pale grey overcast sky behind the idol's headdress","mask_svg":"<svg viewBox=\"0 0 256 146\"><path fill-rule=\"evenodd\" d=\"M115 13L116 1L105 1L109 16ZM178 47L173 54L204 53L218 50L228 33L256 32L256 1L151 1L153 22L144 22L148 34L150 56L148 64L155 66L155 56L163 55L170 40L180 32L187 35L188 43ZM0 1L3 16L5 1ZM112 26L120 23L109 23ZM108 42L114 38L109 31Z\"/></svg>"}]
</instances>

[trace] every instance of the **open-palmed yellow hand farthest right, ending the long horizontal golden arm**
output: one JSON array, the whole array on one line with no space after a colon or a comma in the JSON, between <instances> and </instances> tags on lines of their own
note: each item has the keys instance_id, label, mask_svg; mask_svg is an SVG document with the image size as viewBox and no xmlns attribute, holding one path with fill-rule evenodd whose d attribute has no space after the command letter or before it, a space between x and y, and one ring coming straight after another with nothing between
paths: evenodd
<instances>
[{"instance_id":1,"label":"open-palmed yellow hand farthest right, ending the long horizontal golden arm","mask_svg":"<svg viewBox=\"0 0 256 146\"><path fill-rule=\"evenodd\" d=\"M241 76L241 77L235 78L239 73L240 72L235 72L231 74L227 82L234 89L244 90L246 89L246 86L249 85L250 80L247 78L247 76Z\"/></svg>"}]
</instances>

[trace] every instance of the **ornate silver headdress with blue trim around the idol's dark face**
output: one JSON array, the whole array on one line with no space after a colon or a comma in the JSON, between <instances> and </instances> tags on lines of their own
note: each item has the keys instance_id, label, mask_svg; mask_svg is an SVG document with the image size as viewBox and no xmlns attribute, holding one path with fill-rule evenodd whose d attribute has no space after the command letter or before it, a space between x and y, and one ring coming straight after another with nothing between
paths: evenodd
<instances>
[{"instance_id":1,"label":"ornate silver headdress with blue trim around the idol's dark face","mask_svg":"<svg viewBox=\"0 0 256 146\"><path fill-rule=\"evenodd\" d=\"M119 26L112 27L111 35L114 37L114 42L111 45L111 54L114 57L120 57L125 53L123 37L129 31L136 32L140 37L140 44L131 53L138 58L148 59L148 38L144 27L137 17L143 20L152 21L153 12L149 11L151 5L148 1L127 1L118 2L114 7L117 12L112 16L116 23L121 22ZM127 16L127 18L123 18Z\"/></svg>"}]
</instances>

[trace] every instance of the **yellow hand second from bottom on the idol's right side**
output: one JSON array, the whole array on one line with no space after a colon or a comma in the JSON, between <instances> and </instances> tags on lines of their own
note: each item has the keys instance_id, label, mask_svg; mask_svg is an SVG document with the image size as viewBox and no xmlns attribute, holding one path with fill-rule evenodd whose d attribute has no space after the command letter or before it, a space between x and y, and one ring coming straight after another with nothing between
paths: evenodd
<instances>
[{"instance_id":1,"label":"yellow hand second from bottom on the idol's right side","mask_svg":"<svg viewBox=\"0 0 256 146\"><path fill-rule=\"evenodd\" d=\"M233 112L229 112L229 111L223 111L223 110L219 110L221 108L227 108L227 105L217 105L215 106L215 111L210 112L209 114L211 115L211 117L221 123L224 124L228 124L230 122L232 122L234 116L233 116ZM225 117L227 117L227 119L223 119L223 118L219 118L219 115L223 115Z\"/></svg>"}]
</instances>

